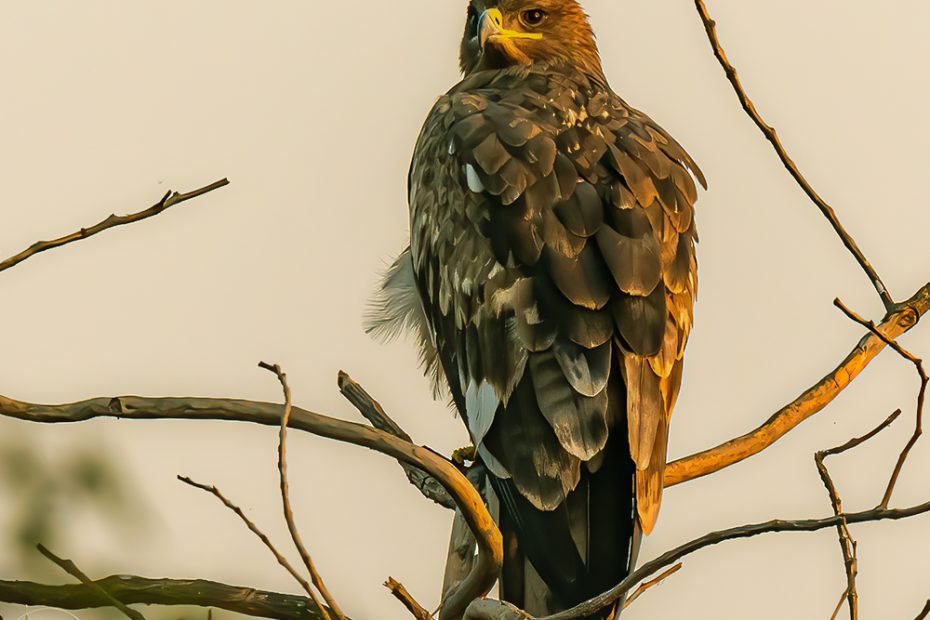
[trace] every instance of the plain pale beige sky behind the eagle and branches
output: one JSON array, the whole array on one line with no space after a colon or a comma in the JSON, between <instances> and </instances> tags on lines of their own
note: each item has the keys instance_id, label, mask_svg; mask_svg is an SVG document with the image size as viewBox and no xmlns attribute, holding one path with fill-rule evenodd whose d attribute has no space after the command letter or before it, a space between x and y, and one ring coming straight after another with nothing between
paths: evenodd
<instances>
[{"instance_id":1,"label":"plain pale beige sky behind the eagle and branches","mask_svg":"<svg viewBox=\"0 0 930 620\"><path fill-rule=\"evenodd\" d=\"M701 292L670 454L740 434L845 356L878 318L866 279L739 109L686 0L587 2L613 87L703 166ZM930 278L930 4L717 0L731 59L799 165L898 298ZM419 442L465 434L429 398L408 342L361 329L378 272L405 243L420 124L457 79L464 2L0 3L0 254L148 206L168 188L232 185L154 220L0 275L0 392L63 402L120 393L279 398L356 419L343 368ZM930 354L930 328L904 339ZM831 463L848 509L874 505L909 435L917 380L883 354L830 409L763 456L666 495L643 557L772 517L829 513L812 454L906 417ZM55 549L89 573L203 577L297 592L234 516L175 475L216 483L282 546L275 431L230 423L99 421L6 438L54 465L68 446L116 459L139 532L61 507ZM449 514L396 464L291 435L304 538L354 618L405 618L381 583L437 600ZM920 444L895 503L927 499ZM0 495L0 525L13 503ZM864 618L910 618L930 594L930 520L857 526ZM6 543L4 543L6 544ZM28 576L0 548L3 578ZM631 608L630 619L825 618L843 589L832 530L727 543ZM15 618L22 608L0 606ZM176 613L176 612L175 612ZM220 616L229 615L220 613ZM625 616L626 617L626 616Z\"/></svg>"}]
</instances>

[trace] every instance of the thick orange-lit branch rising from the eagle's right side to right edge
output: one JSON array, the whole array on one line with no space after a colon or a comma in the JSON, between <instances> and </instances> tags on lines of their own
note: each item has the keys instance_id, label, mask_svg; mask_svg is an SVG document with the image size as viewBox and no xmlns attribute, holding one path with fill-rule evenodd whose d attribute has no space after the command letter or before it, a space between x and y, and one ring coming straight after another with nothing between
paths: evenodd
<instances>
[{"instance_id":1,"label":"thick orange-lit branch rising from the eagle's right side to right edge","mask_svg":"<svg viewBox=\"0 0 930 620\"><path fill-rule=\"evenodd\" d=\"M862 338L839 366L792 403L777 411L764 424L719 446L669 463L665 470L665 486L670 487L720 471L771 446L798 424L830 404L887 346L886 339L894 340L909 331L928 310L930 284L925 285L906 302L898 304L881 325L877 326L884 338L874 333Z\"/></svg>"}]
</instances>

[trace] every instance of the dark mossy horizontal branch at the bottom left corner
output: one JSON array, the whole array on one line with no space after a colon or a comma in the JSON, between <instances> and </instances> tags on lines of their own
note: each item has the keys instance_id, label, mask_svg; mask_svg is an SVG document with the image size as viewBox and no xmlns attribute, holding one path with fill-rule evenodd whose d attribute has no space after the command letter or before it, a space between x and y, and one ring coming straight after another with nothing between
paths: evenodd
<instances>
[{"instance_id":1,"label":"dark mossy horizontal branch at the bottom left corner","mask_svg":"<svg viewBox=\"0 0 930 620\"><path fill-rule=\"evenodd\" d=\"M215 607L260 618L322 620L305 596L231 586L203 579L149 579L112 576L92 584L127 605ZM0 580L0 601L16 605L48 605L59 609L111 607L113 602L85 584L52 586L29 581Z\"/></svg>"}]
</instances>

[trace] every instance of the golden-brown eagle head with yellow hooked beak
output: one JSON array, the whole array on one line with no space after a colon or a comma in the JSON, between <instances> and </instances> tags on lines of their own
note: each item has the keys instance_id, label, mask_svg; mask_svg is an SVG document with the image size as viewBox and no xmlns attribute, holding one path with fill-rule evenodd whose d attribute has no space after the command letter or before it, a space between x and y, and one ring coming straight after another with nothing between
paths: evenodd
<instances>
[{"instance_id":1,"label":"golden-brown eagle head with yellow hooked beak","mask_svg":"<svg viewBox=\"0 0 930 620\"><path fill-rule=\"evenodd\" d=\"M577 0L471 0L460 54L466 75L544 65L603 80L588 16Z\"/></svg>"}]
</instances>

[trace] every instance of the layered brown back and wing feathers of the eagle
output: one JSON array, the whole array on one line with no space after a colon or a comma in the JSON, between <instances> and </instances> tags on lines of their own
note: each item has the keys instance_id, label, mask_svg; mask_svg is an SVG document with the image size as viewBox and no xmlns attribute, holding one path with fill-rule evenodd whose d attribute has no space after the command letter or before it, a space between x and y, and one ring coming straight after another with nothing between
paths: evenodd
<instances>
[{"instance_id":1,"label":"layered brown back and wing feathers of the eagle","mask_svg":"<svg viewBox=\"0 0 930 620\"><path fill-rule=\"evenodd\" d=\"M474 74L424 126L410 174L424 316L473 440L537 508L604 449L619 369L652 529L697 286L692 175L661 128L581 76Z\"/></svg>"}]
</instances>

